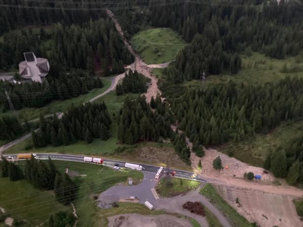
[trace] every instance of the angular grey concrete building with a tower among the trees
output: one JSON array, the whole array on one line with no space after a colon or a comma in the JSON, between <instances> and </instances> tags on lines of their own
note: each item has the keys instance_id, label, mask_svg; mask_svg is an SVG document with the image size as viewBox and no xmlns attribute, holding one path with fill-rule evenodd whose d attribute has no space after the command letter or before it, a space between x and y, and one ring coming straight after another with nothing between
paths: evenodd
<instances>
[{"instance_id":1,"label":"angular grey concrete building with a tower among the trees","mask_svg":"<svg viewBox=\"0 0 303 227\"><path fill-rule=\"evenodd\" d=\"M33 52L24 53L25 61L19 63L19 74L24 79L42 83L50 70L46 58L36 57Z\"/></svg>"}]
</instances>

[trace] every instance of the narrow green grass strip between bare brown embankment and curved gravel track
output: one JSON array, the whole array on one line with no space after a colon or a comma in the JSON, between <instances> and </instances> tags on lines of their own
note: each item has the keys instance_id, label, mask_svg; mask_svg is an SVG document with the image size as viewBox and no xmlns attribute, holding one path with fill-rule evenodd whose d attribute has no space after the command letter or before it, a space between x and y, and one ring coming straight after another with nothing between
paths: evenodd
<instances>
[{"instance_id":1,"label":"narrow green grass strip between bare brown embankment and curved gravel track","mask_svg":"<svg viewBox=\"0 0 303 227\"><path fill-rule=\"evenodd\" d=\"M243 218L233 207L231 207L212 187L206 184L200 191L200 194L211 200L212 204L220 209L229 221L236 227L253 227L245 218Z\"/></svg>"}]
</instances>

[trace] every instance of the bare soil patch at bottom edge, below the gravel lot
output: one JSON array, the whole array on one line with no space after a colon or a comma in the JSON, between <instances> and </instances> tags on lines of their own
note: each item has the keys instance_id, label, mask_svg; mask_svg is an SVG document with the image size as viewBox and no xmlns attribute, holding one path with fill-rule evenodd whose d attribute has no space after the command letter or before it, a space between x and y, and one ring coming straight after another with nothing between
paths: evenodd
<instances>
[{"instance_id":1,"label":"bare soil patch at bottom edge, below the gravel lot","mask_svg":"<svg viewBox=\"0 0 303 227\"><path fill-rule=\"evenodd\" d=\"M192 227L185 219L171 215L122 214L108 217L109 227Z\"/></svg>"}]
</instances>

